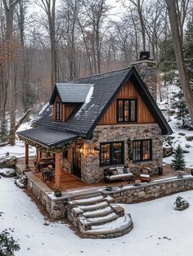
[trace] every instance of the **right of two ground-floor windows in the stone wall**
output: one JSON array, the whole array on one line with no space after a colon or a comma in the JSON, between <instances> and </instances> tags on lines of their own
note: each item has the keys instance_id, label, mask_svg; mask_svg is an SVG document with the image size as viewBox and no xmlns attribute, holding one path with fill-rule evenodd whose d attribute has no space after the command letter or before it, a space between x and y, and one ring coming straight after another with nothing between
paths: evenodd
<instances>
[{"instance_id":1,"label":"right of two ground-floor windows in the stone wall","mask_svg":"<svg viewBox=\"0 0 193 256\"><path fill-rule=\"evenodd\" d=\"M152 141L132 141L132 161L147 161L152 158Z\"/></svg>"}]
</instances>

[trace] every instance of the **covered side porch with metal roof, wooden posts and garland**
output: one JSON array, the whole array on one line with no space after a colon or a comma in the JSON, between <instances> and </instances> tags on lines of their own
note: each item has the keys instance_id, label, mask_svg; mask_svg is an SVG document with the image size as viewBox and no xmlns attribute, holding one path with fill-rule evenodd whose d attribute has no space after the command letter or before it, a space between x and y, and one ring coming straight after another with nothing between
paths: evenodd
<instances>
[{"instance_id":1,"label":"covered side porch with metal roof, wooden posts and garland","mask_svg":"<svg viewBox=\"0 0 193 256\"><path fill-rule=\"evenodd\" d=\"M78 183L79 186L85 184L79 178L71 175L70 167L66 168L66 164L64 164L65 155L68 155L69 149L72 149L74 145L80 145L81 140L77 135L51 128L37 127L18 132L18 136L25 141L25 159L20 159L17 167L29 169L36 177L46 182L52 190L57 188L65 190L64 179L65 186L68 184L71 187L77 187ZM29 158L29 145L36 147L36 157ZM75 161L77 159L74 159L74 155L71 155L71 159ZM79 168L79 161L75 164L77 164L75 167Z\"/></svg>"}]
</instances>

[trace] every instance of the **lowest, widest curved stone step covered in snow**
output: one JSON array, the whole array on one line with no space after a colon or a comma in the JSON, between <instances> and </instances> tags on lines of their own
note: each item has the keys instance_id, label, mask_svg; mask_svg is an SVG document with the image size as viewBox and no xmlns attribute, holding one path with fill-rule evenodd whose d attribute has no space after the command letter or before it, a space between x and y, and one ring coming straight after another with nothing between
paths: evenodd
<instances>
[{"instance_id":1,"label":"lowest, widest curved stone step covered in snow","mask_svg":"<svg viewBox=\"0 0 193 256\"><path fill-rule=\"evenodd\" d=\"M128 214L117 218L113 222L109 222L104 225L92 226L90 230L83 231L83 236L92 238L113 238L123 236L132 230L132 226L132 219Z\"/></svg>"}]
</instances>

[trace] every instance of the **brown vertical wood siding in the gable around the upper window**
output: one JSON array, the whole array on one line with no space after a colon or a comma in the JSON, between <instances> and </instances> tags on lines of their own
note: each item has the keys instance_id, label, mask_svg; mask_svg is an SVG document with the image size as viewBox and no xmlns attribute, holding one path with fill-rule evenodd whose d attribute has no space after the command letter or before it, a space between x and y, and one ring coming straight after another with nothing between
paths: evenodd
<instances>
[{"instance_id":1,"label":"brown vertical wood siding in the gable around the upper window","mask_svg":"<svg viewBox=\"0 0 193 256\"><path fill-rule=\"evenodd\" d=\"M105 115L101 118L99 124L117 124L117 99L137 99L137 123L147 124L155 123L155 118L150 114L150 110L146 104L142 101L141 96L136 91L135 87L131 82L126 83L123 88L121 88L118 96L111 103L109 108L105 111ZM119 123L126 124L126 123ZM135 124L135 123L129 123Z\"/></svg>"}]
</instances>

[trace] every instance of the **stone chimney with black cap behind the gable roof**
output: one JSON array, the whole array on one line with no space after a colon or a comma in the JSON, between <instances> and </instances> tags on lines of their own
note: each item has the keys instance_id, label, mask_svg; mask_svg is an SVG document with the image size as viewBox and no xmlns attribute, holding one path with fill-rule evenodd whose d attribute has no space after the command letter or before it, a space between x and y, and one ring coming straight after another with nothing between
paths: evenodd
<instances>
[{"instance_id":1,"label":"stone chimney with black cap behind the gable roof","mask_svg":"<svg viewBox=\"0 0 193 256\"><path fill-rule=\"evenodd\" d=\"M140 52L139 60L133 62L132 65L141 75L152 97L157 101L157 62L150 59L150 52Z\"/></svg>"}]
</instances>

